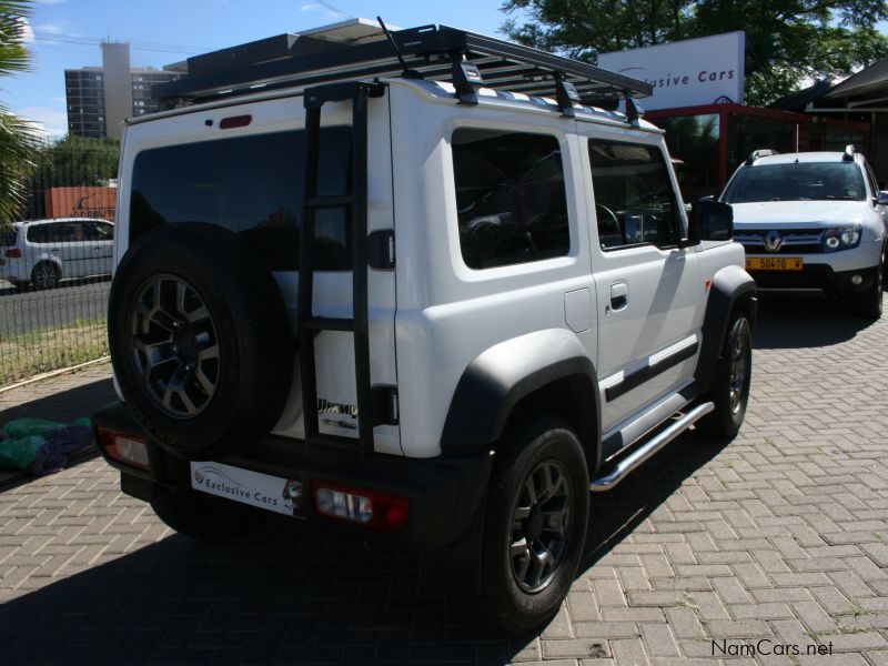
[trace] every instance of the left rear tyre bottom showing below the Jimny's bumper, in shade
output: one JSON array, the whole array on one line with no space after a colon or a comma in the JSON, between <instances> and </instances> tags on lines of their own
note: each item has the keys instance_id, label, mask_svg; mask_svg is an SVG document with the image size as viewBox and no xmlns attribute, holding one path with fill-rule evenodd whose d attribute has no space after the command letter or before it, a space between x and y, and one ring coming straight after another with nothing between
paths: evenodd
<instances>
[{"instance_id":1,"label":"left rear tyre bottom showing below the Jimny's bumper, in shade","mask_svg":"<svg viewBox=\"0 0 888 666\"><path fill-rule=\"evenodd\" d=\"M198 541L221 542L246 536L262 525L261 508L189 490L154 486L151 508L169 527Z\"/></svg>"}]
</instances>

